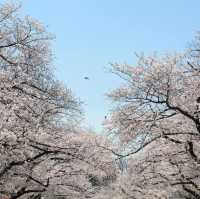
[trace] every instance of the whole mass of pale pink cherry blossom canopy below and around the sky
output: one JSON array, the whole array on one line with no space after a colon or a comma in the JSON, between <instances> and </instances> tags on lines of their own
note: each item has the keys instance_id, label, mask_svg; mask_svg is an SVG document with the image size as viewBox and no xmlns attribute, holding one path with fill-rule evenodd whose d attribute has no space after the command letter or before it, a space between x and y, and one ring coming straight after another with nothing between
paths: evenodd
<instances>
[{"instance_id":1,"label":"whole mass of pale pink cherry blossom canopy below and around the sky","mask_svg":"<svg viewBox=\"0 0 200 199\"><path fill-rule=\"evenodd\" d=\"M199 34L182 53L112 64L124 84L98 135L54 75L53 35L19 12L0 7L0 197L200 199Z\"/></svg>"}]
</instances>

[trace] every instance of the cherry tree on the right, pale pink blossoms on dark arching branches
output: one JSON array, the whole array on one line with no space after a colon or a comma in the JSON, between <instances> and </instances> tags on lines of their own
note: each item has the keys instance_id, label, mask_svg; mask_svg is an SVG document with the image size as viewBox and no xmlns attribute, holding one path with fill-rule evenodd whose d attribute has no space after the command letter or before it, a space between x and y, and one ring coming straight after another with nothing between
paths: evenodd
<instances>
[{"instance_id":1,"label":"cherry tree on the right, pale pink blossoms on dark arching branches","mask_svg":"<svg viewBox=\"0 0 200 199\"><path fill-rule=\"evenodd\" d=\"M112 65L124 85L108 94L117 105L106 126L129 158L127 198L200 198L199 41L182 54Z\"/></svg>"}]
</instances>

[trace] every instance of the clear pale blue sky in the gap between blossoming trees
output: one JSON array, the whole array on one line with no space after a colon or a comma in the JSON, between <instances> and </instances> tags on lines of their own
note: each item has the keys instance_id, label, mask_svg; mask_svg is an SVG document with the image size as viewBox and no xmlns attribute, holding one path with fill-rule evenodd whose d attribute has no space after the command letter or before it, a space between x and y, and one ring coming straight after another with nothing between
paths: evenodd
<instances>
[{"instance_id":1,"label":"clear pale blue sky in the gap between blossoming trees","mask_svg":"<svg viewBox=\"0 0 200 199\"><path fill-rule=\"evenodd\" d=\"M199 0L22 2L25 14L56 35L57 77L85 101L86 123L97 130L112 108L104 94L120 84L106 72L109 62L134 64L134 52L182 50L200 30Z\"/></svg>"}]
</instances>

